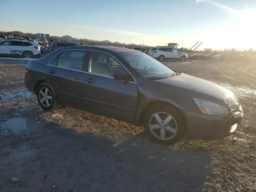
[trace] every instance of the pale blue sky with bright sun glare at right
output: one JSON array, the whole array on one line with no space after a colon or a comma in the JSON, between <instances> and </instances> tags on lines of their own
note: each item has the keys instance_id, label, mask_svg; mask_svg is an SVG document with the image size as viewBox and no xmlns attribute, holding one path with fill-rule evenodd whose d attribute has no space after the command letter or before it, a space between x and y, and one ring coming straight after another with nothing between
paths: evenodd
<instances>
[{"instance_id":1,"label":"pale blue sky with bright sun glare at right","mask_svg":"<svg viewBox=\"0 0 256 192\"><path fill-rule=\"evenodd\" d=\"M256 0L12 0L0 31L126 44L256 50Z\"/></svg>"}]
</instances>

